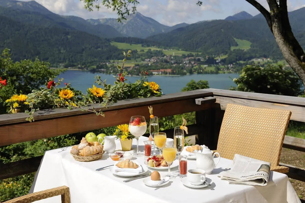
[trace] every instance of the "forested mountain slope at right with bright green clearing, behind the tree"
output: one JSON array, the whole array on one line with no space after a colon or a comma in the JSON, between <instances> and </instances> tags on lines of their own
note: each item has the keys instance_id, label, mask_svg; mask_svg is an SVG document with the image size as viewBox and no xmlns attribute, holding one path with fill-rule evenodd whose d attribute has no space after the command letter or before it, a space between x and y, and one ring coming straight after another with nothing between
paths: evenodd
<instances>
[{"instance_id":1,"label":"forested mountain slope at right with bright green clearing, behind the tree","mask_svg":"<svg viewBox=\"0 0 305 203\"><path fill-rule=\"evenodd\" d=\"M305 49L305 25L302 20L304 18L305 8L289 13L294 34ZM260 16L254 16L249 20L213 20L194 23L168 33L147 37L147 40L186 51L219 55L228 54L231 52L231 47L238 48L234 38L249 41L251 44L247 52L255 57L282 57L266 20Z\"/></svg>"}]
</instances>

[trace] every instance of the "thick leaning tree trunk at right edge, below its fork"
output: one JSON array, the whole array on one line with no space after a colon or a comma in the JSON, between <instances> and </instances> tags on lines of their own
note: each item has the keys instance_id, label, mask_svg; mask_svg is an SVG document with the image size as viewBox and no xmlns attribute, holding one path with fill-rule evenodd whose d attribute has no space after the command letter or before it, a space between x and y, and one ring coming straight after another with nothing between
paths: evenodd
<instances>
[{"instance_id":1,"label":"thick leaning tree trunk at right edge, below its fork","mask_svg":"<svg viewBox=\"0 0 305 203\"><path fill-rule=\"evenodd\" d=\"M305 87L305 54L303 48L294 37L289 22L283 24L280 16L271 16L271 19L275 41L284 58L300 77Z\"/></svg>"}]
</instances>

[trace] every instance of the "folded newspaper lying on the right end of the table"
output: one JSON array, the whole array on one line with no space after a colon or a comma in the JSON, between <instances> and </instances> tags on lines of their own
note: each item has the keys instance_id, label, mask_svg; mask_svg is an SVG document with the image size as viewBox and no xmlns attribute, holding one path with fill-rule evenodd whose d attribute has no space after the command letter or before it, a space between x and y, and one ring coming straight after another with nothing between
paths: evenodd
<instances>
[{"instance_id":1,"label":"folded newspaper lying on the right end of the table","mask_svg":"<svg viewBox=\"0 0 305 203\"><path fill-rule=\"evenodd\" d=\"M220 173L230 184L267 185L270 163L235 154L231 169Z\"/></svg>"}]
</instances>

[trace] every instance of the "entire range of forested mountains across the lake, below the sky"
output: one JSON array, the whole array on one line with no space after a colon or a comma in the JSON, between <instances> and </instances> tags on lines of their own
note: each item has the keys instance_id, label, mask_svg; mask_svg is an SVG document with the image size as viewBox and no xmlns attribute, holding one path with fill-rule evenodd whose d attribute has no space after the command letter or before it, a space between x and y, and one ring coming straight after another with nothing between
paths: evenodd
<instances>
[{"instance_id":1,"label":"entire range of forested mountains across the lake, below the sky","mask_svg":"<svg viewBox=\"0 0 305 203\"><path fill-rule=\"evenodd\" d=\"M289 12L294 34L305 49L305 8ZM39 59L52 64L96 64L119 59L111 41L160 48L178 48L203 55L233 54L281 58L266 20L259 14L239 12L224 20L166 26L139 12L117 19L88 19L55 14L35 1L0 0L0 49L11 49L14 60ZM111 38L111 39L107 39ZM251 47L238 50L239 42ZM236 59L237 60L237 59ZM240 59L241 60L241 59Z\"/></svg>"}]
</instances>

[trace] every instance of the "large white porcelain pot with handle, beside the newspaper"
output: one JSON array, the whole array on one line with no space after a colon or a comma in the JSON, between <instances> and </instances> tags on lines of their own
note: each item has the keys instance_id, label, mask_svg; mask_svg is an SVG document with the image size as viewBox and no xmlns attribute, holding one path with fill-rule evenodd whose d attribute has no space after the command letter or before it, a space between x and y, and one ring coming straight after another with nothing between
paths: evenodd
<instances>
[{"instance_id":1,"label":"large white porcelain pot with handle, beside the newspaper","mask_svg":"<svg viewBox=\"0 0 305 203\"><path fill-rule=\"evenodd\" d=\"M214 153L218 155L218 161L215 163L213 158L213 151L204 145L202 147L202 150L194 151L196 156L196 168L205 170L206 174L211 174L220 160L220 154L218 152Z\"/></svg>"}]
</instances>

